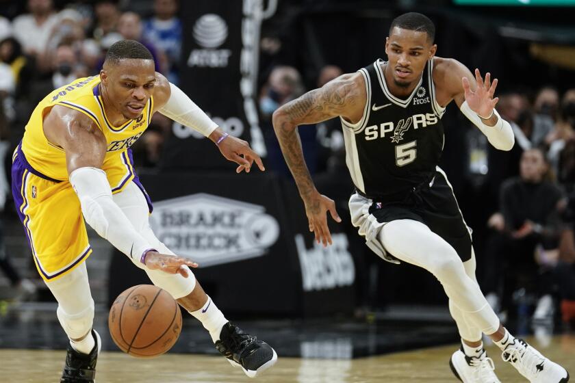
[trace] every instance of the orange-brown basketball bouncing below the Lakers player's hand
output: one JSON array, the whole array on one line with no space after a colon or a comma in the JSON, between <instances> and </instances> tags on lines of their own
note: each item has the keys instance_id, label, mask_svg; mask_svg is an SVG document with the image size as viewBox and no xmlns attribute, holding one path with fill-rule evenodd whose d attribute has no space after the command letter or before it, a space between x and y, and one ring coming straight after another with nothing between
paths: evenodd
<instances>
[{"instance_id":1,"label":"orange-brown basketball bouncing below the Lakers player's hand","mask_svg":"<svg viewBox=\"0 0 575 383\"><path fill-rule=\"evenodd\" d=\"M153 285L130 287L110 308L108 326L114 343L137 358L167 352L181 331L179 305L165 290Z\"/></svg>"}]
</instances>

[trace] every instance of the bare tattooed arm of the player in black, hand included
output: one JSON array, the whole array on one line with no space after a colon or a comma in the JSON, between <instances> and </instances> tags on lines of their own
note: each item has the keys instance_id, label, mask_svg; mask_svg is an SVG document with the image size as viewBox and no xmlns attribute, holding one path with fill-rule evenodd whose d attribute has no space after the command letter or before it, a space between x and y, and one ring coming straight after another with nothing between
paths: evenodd
<instances>
[{"instance_id":1,"label":"bare tattooed arm of the player in black, hand included","mask_svg":"<svg viewBox=\"0 0 575 383\"><path fill-rule=\"evenodd\" d=\"M299 194L305 204L305 213L309 221L309 231L316 235L316 241L324 246L331 244L331 235L327 227L326 213L341 222L335 211L335 203L322 196L303 159L301 141L297 127L301 124L315 124L342 116L350 122L357 122L363 114L366 104L366 87L359 73L342 75L325 84L322 88L311 90L300 98L277 109L273 115L274 131L277 135L283 158L292 172Z\"/></svg>"}]
</instances>

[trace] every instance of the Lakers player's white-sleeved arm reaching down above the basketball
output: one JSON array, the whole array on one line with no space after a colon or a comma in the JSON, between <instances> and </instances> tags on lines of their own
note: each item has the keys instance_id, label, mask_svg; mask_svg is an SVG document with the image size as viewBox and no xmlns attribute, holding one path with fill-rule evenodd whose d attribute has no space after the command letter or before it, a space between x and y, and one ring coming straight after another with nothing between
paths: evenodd
<instances>
[{"instance_id":1,"label":"Lakers player's white-sleeved arm reaching down above the basketball","mask_svg":"<svg viewBox=\"0 0 575 383\"><path fill-rule=\"evenodd\" d=\"M56 105L44 118L44 134L49 142L65 150L70 183L80 200L84 219L101 237L142 268L147 265L188 276L182 266L197 267L188 259L155 251L114 202L110 183L101 169L106 140L94 121L79 111Z\"/></svg>"}]
</instances>

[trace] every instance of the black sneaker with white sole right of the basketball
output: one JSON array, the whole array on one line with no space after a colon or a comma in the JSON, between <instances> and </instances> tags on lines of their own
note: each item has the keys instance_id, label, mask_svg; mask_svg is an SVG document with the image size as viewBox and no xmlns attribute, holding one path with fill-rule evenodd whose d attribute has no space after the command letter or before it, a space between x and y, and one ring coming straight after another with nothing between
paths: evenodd
<instances>
[{"instance_id":1,"label":"black sneaker with white sole right of the basketball","mask_svg":"<svg viewBox=\"0 0 575 383\"><path fill-rule=\"evenodd\" d=\"M230 322L222 328L216 349L232 366L242 367L250 378L255 378L277 362L277 354L268 343L258 341Z\"/></svg>"}]
</instances>

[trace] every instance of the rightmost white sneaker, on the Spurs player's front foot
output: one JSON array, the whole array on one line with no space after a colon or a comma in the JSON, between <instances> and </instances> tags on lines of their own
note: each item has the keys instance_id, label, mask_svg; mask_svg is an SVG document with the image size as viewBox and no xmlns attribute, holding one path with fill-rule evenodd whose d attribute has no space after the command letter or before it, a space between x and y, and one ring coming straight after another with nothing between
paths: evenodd
<instances>
[{"instance_id":1,"label":"rightmost white sneaker, on the Spurs player's front foot","mask_svg":"<svg viewBox=\"0 0 575 383\"><path fill-rule=\"evenodd\" d=\"M513 343L505 347L501 358L510 362L531 383L569 382L567 370L541 355L523 339L513 339Z\"/></svg>"}]
</instances>

